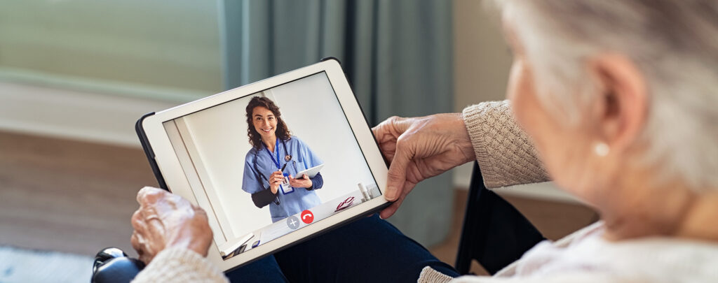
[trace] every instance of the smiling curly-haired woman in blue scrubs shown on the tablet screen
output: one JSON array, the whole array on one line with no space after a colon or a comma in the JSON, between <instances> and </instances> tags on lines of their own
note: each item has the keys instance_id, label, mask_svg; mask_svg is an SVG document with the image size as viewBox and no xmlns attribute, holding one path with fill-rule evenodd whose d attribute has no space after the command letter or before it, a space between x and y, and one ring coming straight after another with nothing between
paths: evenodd
<instances>
[{"instance_id":1,"label":"smiling curly-haired woman in blue scrubs shown on the tablet screen","mask_svg":"<svg viewBox=\"0 0 718 283\"><path fill-rule=\"evenodd\" d=\"M314 190L324 185L322 174L313 178L304 174L297 179L294 175L322 164L322 160L304 141L292 136L271 99L254 96L246 111L252 149L244 162L244 192L252 194L257 207L269 205L272 222L321 204ZM285 176L289 184L283 184Z\"/></svg>"}]
</instances>

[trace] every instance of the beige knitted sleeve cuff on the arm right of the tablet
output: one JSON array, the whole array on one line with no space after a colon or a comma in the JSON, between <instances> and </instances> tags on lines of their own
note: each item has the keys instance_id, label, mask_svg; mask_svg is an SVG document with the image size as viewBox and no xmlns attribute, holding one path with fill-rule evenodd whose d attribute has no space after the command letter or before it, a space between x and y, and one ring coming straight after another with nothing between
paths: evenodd
<instances>
[{"instance_id":1,"label":"beige knitted sleeve cuff on the arm right of the tablet","mask_svg":"<svg viewBox=\"0 0 718 283\"><path fill-rule=\"evenodd\" d=\"M549 181L536 149L516 124L509 101L468 106L463 114L486 187Z\"/></svg>"}]
</instances>

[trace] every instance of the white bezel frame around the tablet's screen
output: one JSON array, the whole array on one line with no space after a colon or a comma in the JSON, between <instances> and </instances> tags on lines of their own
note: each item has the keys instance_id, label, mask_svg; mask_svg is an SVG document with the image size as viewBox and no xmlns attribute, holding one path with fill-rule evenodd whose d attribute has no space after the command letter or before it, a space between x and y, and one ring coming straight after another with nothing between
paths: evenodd
<instances>
[{"instance_id":1,"label":"white bezel frame around the tablet's screen","mask_svg":"<svg viewBox=\"0 0 718 283\"><path fill-rule=\"evenodd\" d=\"M185 176L185 172L182 170L180 161L172 148L172 144L170 144L169 136L167 135L167 131L165 131L162 123L197 111L208 109L212 106L223 104L234 99L257 94L260 91L271 89L275 86L286 84L290 81L302 79L321 72L325 72L327 75L327 79L329 79L332 89L334 89L337 100L339 101L342 111L349 122L356 140L358 141L359 147L366 159L371 174L373 174L381 194L384 194L388 171L387 164L381 155L376 139L374 139L372 131L358 104L354 92L352 91L339 62L335 59L321 61L317 64L312 64L301 69L279 74L253 84L240 86L236 89L221 92L220 94L208 96L164 111L159 111L154 115L146 116L142 119L139 124L141 129L144 131L146 142L148 143L149 148L151 148L151 152L154 152L154 161L159 168L159 172L161 172L164 182L166 182L170 191L174 194L185 197L185 199L188 199L192 202L192 204L197 205L197 199L190 189L190 183ZM352 186L352 184L348 184L348 186ZM322 221L313 223L307 227L303 227L302 229L298 229L297 231L286 234L283 237L274 239L271 242L262 244L259 247L250 249L227 260L222 259L218 245L213 240L208 252L208 259L226 272L230 269L241 267L244 264L253 262L266 254L277 252L281 249L285 249L286 247L291 247L293 244L315 237L321 232L326 232L329 229L338 227L340 224L350 222L352 219L357 219L365 214L376 212L378 209L386 207L388 204L390 203L386 202L386 199L383 197L371 199L368 202L351 207L345 212L322 219ZM214 216L210 217L214 218ZM216 219L214 220L216 221ZM213 219L210 219L210 222L212 221Z\"/></svg>"}]
</instances>

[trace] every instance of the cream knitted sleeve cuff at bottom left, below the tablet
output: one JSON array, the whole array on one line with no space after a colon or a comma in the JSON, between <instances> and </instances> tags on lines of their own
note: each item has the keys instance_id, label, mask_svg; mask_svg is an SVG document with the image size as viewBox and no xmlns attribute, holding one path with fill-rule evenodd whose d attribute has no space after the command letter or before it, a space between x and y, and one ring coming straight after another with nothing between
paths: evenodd
<instances>
[{"instance_id":1,"label":"cream knitted sleeve cuff at bottom left, below the tablet","mask_svg":"<svg viewBox=\"0 0 718 283\"><path fill-rule=\"evenodd\" d=\"M132 283L228 282L223 272L194 251L170 248L159 252Z\"/></svg>"}]
</instances>

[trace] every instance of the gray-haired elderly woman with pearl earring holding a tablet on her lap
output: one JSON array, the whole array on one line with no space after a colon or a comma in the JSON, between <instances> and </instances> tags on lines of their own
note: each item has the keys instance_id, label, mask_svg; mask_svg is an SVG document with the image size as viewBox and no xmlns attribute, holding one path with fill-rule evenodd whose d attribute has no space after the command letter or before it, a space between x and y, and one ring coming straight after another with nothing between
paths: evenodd
<instances>
[{"instance_id":1,"label":"gray-haired elderly woman with pearl earring holding a tablet on her lap","mask_svg":"<svg viewBox=\"0 0 718 283\"><path fill-rule=\"evenodd\" d=\"M381 217L391 216L421 180L477 160L488 187L550 176L602 220L537 244L495 277L457 281L718 282L718 2L506 0L499 6L514 52L510 101L377 126L391 160L385 197L396 201ZM133 242L145 261L154 260L136 281L225 280L200 257L211 239L201 211L151 189L139 200ZM167 209L177 203L183 209ZM160 225L160 232L151 228ZM370 218L342 229L361 225L384 224ZM383 242L410 242L395 238L365 244L363 265L330 262L305 271L328 277L302 277L285 266L286 257L275 257L289 281L355 278L345 273L374 282L457 276L418 245L383 252L395 249ZM297 264L322 254L330 250L292 256ZM409 270L421 265L421 274ZM250 277L252 271L238 272Z\"/></svg>"}]
</instances>

